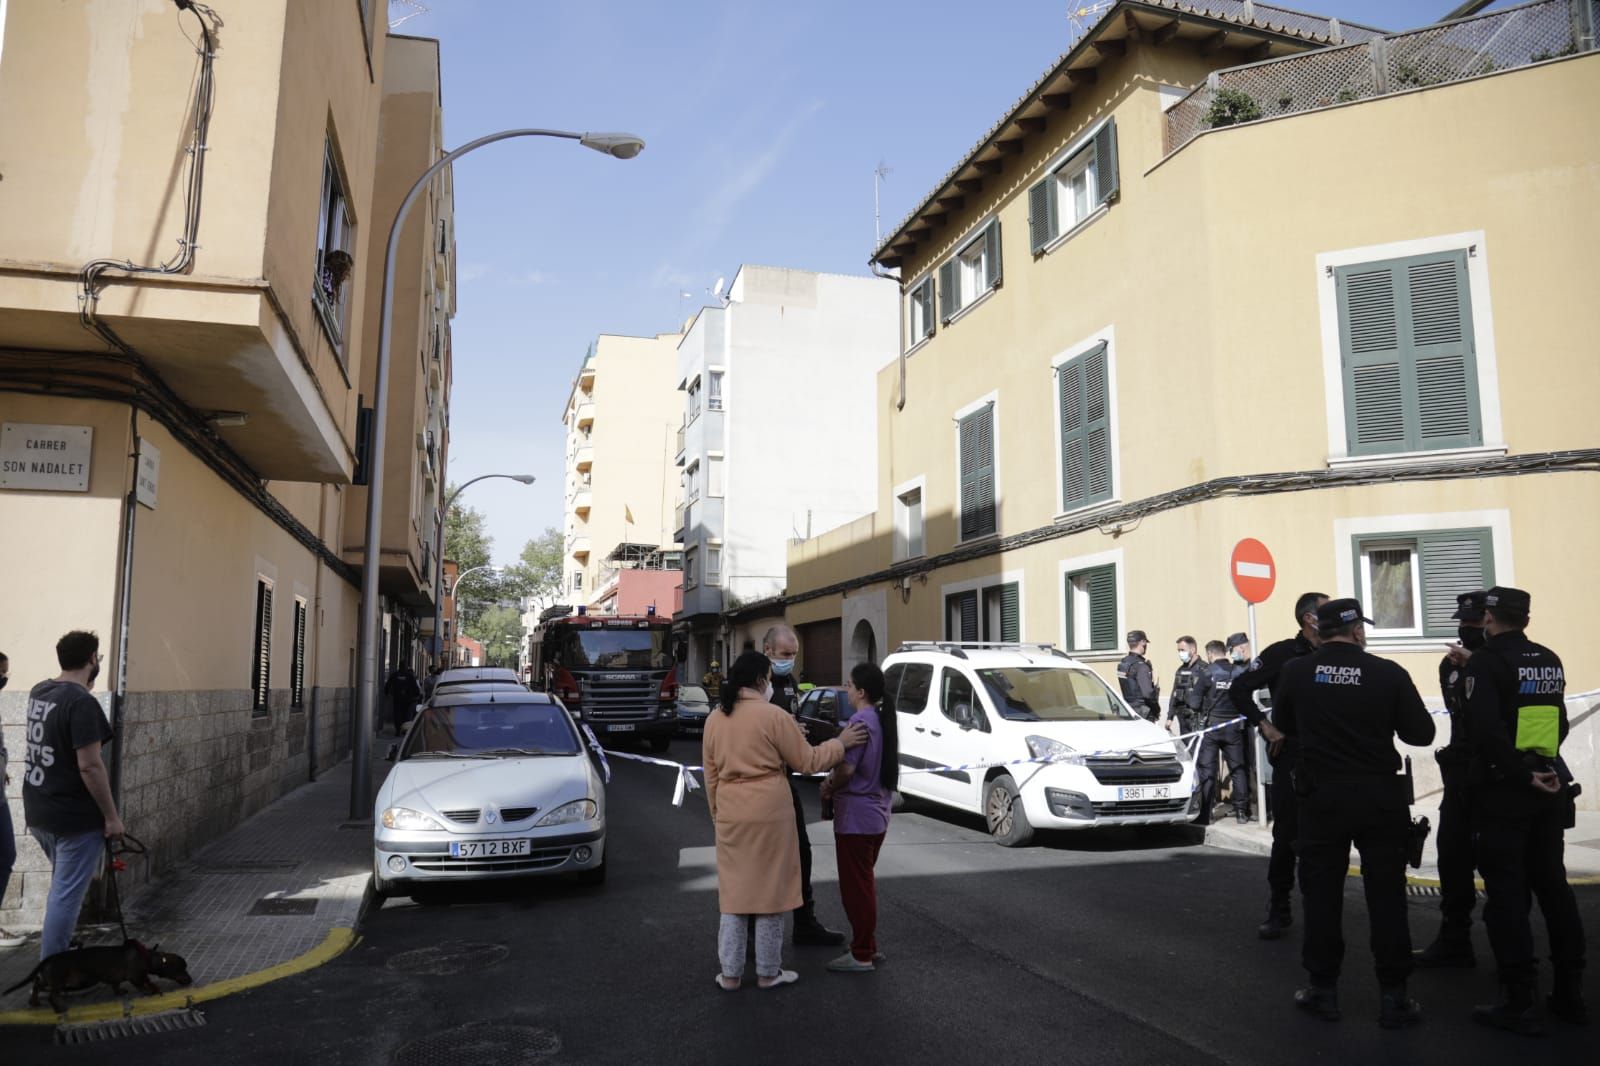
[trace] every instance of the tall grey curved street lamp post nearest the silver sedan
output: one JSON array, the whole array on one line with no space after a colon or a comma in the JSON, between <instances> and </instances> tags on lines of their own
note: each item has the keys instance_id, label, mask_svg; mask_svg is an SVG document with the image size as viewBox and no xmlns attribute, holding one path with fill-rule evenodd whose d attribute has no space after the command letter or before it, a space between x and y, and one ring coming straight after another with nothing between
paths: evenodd
<instances>
[{"instance_id":1,"label":"tall grey curved street lamp post nearest the silver sedan","mask_svg":"<svg viewBox=\"0 0 1600 1066\"><path fill-rule=\"evenodd\" d=\"M502 130L469 141L446 152L422 171L411 190L400 202L395 221L389 226L389 245L384 250L384 295L379 304L378 325L378 384L373 389L373 437L366 469L366 543L362 546L362 618L357 635L355 659L355 722L350 736L350 820L365 818L373 797L373 717L378 712L378 565L381 557L384 515L384 439L389 427L389 344L394 333L389 309L395 295L395 253L400 250L400 229L411 205L437 174L453 162L496 141L510 138L560 138L578 141L584 147L616 158L634 158L645 150L645 141L629 133L570 133L566 130Z\"/></svg>"}]
</instances>

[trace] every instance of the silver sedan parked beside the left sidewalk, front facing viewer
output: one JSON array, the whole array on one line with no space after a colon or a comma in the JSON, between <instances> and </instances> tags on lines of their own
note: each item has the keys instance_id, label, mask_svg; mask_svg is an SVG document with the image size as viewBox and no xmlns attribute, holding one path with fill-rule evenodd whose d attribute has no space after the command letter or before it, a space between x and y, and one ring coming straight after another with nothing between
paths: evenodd
<instances>
[{"instance_id":1,"label":"silver sedan parked beside the left sidewalk, front facing viewer","mask_svg":"<svg viewBox=\"0 0 1600 1066\"><path fill-rule=\"evenodd\" d=\"M605 784L549 696L435 696L390 759L373 812L379 896L490 877L605 880Z\"/></svg>"}]
</instances>

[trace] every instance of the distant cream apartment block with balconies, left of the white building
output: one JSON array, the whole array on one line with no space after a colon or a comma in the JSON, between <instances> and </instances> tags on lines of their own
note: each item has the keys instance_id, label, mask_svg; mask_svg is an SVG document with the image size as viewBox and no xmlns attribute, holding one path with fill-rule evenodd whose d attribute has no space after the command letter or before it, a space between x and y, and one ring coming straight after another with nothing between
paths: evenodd
<instances>
[{"instance_id":1,"label":"distant cream apartment block with balconies, left of the white building","mask_svg":"<svg viewBox=\"0 0 1600 1066\"><path fill-rule=\"evenodd\" d=\"M672 613L680 333L600 335L566 397L566 575L562 599L594 611Z\"/></svg>"}]
</instances>

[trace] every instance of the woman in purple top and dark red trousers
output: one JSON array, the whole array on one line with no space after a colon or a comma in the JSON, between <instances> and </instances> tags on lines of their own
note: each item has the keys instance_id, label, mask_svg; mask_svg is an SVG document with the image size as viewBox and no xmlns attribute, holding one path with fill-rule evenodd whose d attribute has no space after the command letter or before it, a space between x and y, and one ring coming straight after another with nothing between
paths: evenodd
<instances>
[{"instance_id":1,"label":"woman in purple top and dark red trousers","mask_svg":"<svg viewBox=\"0 0 1600 1066\"><path fill-rule=\"evenodd\" d=\"M845 752L822 783L822 799L834 802L834 847L838 850L838 895L850 917L850 951L827 964L834 973L869 973L878 954L878 887L872 868L890 829L890 797L899 784L899 731L894 711L882 711L883 671L861 663L845 687L851 722L867 728L867 743Z\"/></svg>"}]
</instances>

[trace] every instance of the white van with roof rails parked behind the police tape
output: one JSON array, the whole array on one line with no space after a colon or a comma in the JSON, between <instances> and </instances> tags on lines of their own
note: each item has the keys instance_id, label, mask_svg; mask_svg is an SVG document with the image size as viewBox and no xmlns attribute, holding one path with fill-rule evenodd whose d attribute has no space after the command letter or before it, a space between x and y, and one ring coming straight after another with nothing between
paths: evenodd
<instances>
[{"instance_id":1,"label":"white van with roof rails parked behind the police tape","mask_svg":"<svg viewBox=\"0 0 1600 1066\"><path fill-rule=\"evenodd\" d=\"M1048 643L904 643L883 679L901 794L982 815L997 844L1197 813L1189 749ZM997 765L1021 759L1051 762Z\"/></svg>"}]
</instances>

